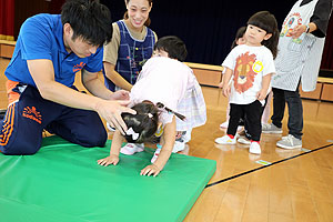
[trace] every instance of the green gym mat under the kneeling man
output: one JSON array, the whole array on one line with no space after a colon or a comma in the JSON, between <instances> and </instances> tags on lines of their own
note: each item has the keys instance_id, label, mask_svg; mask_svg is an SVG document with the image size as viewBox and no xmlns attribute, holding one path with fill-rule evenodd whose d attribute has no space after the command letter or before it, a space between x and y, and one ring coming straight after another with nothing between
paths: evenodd
<instances>
[{"instance_id":1,"label":"green gym mat under the kneeling man","mask_svg":"<svg viewBox=\"0 0 333 222\"><path fill-rule=\"evenodd\" d=\"M157 178L141 176L153 150L97 164L110 144L88 149L50 137L34 155L0 153L0 222L182 221L216 168L172 154Z\"/></svg>"}]
</instances>

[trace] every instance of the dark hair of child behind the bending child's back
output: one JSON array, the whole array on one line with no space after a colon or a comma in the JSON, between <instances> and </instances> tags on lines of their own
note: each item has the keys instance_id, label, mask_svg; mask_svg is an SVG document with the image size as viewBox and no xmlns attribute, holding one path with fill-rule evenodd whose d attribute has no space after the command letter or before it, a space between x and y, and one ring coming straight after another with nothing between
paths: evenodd
<instances>
[{"instance_id":1,"label":"dark hair of child behind the bending child's back","mask_svg":"<svg viewBox=\"0 0 333 222\"><path fill-rule=\"evenodd\" d=\"M176 59L181 62L185 61L188 50L185 43L175 36L162 37L154 46L154 50L163 50L168 52L169 58Z\"/></svg>"}]
</instances>

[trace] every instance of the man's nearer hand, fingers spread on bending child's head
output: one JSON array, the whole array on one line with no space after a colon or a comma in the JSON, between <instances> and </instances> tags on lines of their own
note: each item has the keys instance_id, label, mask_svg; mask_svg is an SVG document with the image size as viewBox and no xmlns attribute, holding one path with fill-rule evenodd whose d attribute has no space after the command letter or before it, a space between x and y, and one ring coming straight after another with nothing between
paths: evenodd
<instances>
[{"instance_id":1,"label":"man's nearer hand, fingers spread on bending child's head","mask_svg":"<svg viewBox=\"0 0 333 222\"><path fill-rule=\"evenodd\" d=\"M130 103L129 100L101 100L95 108L95 111L111 124L112 128L117 128L121 134L128 130L127 124L121 118L122 112L128 112L131 114L137 114L135 110L127 108Z\"/></svg>"}]
</instances>

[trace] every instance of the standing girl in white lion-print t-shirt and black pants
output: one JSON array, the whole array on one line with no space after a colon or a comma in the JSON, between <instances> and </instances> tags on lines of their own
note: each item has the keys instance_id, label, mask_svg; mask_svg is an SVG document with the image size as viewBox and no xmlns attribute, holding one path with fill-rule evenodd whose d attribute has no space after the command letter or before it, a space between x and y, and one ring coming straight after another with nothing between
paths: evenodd
<instances>
[{"instance_id":1,"label":"standing girl in white lion-print t-shirt and black pants","mask_svg":"<svg viewBox=\"0 0 333 222\"><path fill-rule=\"evenodd\" d=\"M235 47L222 63L226 68L222 91L225 97L230 95L231 110L226 135L215 139L216 143L235 144L239 120L245 115L252 139L250 152L261 153L261 118L271 75L275 72L273 59L278 52L278 38L275 17L260 11L248 21L246 43Z\"/></svg>"}]
</instances>

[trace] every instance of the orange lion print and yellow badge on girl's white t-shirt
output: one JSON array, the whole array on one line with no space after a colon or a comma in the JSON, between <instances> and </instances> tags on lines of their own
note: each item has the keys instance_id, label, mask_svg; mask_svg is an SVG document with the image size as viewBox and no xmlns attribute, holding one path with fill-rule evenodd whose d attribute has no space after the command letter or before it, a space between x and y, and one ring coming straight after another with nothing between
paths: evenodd
<instances>
[{"instance_id":1,"label":"orange lion print and yellow badge on girl's white t-shirt","mask_svg":"<svg viewBox=\"0 0 333 222\"><path fill-rule=\"evenodd\" d=\"M249 52L238 57L234 68L234 89L239 93L252 88L255 75L262 71L262 62L255 60L255 54L249 54Z\"/></svg>"}]
</instances>

